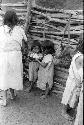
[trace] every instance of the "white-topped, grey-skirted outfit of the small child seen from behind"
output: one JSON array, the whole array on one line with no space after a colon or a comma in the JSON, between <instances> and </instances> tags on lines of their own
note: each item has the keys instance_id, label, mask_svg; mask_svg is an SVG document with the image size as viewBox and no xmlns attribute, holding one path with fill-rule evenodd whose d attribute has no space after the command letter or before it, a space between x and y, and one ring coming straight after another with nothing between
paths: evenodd
<instances>
[{"instance_id":1,"label":"white-topped, grey-skirted outfit of the small child seen from behind","mask_svg":"<svg viewBox=\"0 0 84 125\"><path fill-rule=\"evenodd\" d=\"M48 63L48 65L45 68L41 65L39 66L37 87L42 90L46 90L46 83L48 83L51 89L54 75L53 56L51 54L44 56L42 62Z\"/></svg>"}]
</instances>

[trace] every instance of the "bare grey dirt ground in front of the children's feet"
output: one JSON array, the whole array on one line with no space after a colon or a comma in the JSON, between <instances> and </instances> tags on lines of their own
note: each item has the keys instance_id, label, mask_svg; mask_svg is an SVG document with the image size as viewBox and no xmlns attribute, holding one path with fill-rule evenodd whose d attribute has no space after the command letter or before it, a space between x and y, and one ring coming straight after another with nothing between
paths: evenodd
<instances>
[{"instance_id":1,"label":"bare grey dirt ground in front of the children's feet","mask_svg":"<svg viewBox=\"0 0 84 125\"><path fill-rule=\"evenodd\" d=\"M0 125L73 125L61 116L62 95L52 93L41 99L41 90L17 92L17 98L10 100L7 107L0 106Z\"/></svg>"}]
</instances>

